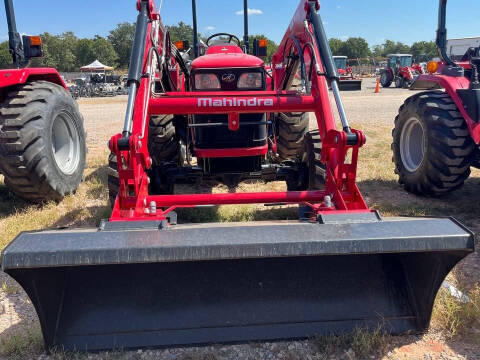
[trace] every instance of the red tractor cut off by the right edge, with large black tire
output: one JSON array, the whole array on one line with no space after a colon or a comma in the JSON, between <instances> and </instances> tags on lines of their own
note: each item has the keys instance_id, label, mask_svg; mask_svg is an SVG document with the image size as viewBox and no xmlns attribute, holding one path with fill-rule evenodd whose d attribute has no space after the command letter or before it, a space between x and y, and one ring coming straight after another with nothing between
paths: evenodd
<instances>
[{"instance_id":1,"label":"red tractor cut off by the right edge, with large black tire","mask_svg":"<svg viewBox=\"0 0 480 360\"><path fill-rule=\"evenodd\" d=\"M443 195L461 187L470 167L480 167L480 48L461 62L446 51L446 6L440 0L437 47L440 62L411 86L427 90L408 98L393 129L392 150L399 182L419 195Z\"/></svg>"}]
</instances>

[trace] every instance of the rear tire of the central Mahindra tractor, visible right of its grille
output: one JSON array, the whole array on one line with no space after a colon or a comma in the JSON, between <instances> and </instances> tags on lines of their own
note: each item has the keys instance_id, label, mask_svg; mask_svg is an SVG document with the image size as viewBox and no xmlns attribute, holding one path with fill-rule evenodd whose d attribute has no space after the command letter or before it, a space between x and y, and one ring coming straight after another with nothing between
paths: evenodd
<instances>
[{"instance_id":1,"label":"rear tire of the central Mahindra tractor, visible right of its grille","mask_svg":"<svg viewBox=\"0 0 480 360\"><path fill-rule=\"evenodd\" d=\"M280 162L302 159L304 137L308 131L309 113L280 113L277 115L279 127L277 153Z\"/></svg>"}]
</instances>

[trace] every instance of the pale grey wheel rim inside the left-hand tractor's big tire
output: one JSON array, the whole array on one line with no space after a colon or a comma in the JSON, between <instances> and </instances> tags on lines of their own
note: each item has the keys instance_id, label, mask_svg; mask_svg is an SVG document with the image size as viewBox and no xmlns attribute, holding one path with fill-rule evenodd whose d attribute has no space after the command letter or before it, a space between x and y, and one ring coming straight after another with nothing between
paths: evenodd
<instances>
[{"instance_id":1,"label":"pale grey wheel rim inside the left-hand tractor's big tire","mask_svg":"<svg viewBox=\"0 0 480 360\"><path fill-rule=\"evenodd\" d=\"M80 139L71 115L66 112L53 121L52 152L61 172L66 175L75 172L80 162Z\"/></svg>"}]
</instances>

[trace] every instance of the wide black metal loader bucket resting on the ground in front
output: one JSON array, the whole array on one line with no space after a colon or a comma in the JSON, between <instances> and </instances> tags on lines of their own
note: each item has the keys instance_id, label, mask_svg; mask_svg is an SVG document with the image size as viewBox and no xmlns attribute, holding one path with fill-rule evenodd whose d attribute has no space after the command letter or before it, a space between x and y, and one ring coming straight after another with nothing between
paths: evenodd
<instances>
[{"instance_id":1,"label":"wide black metal loader bucket resting on the ground in front","mask_svg":"<svg viewBox=\"0 0 480 360\"><path fill-rule=\"evenodd\" d=\"M445 276L474 246L452 219L161 227L107 223L13 240L2 269L35 305L47 348L293 339L379 324L422 332Z\"/></svg>"}]
</instances>

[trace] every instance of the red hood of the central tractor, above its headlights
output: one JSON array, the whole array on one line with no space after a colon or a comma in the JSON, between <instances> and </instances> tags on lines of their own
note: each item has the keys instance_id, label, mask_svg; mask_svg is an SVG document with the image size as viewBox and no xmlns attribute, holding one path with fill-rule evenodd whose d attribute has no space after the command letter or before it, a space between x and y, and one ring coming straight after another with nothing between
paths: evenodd
<instances>
[{"instance_id":1,"label":"red hood of the central tractor, above its headlights","mask_svg":"<svg viewBox=\"0 0 480 360\"><path fill-rule=\"evenodd\" d=\"M230 68L230 67L261 67L263 60L244 54L242 49L234 45L210 46L206 55L192 62L192 69Z\"/></svg>"}]
</instances>

